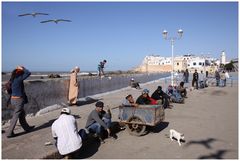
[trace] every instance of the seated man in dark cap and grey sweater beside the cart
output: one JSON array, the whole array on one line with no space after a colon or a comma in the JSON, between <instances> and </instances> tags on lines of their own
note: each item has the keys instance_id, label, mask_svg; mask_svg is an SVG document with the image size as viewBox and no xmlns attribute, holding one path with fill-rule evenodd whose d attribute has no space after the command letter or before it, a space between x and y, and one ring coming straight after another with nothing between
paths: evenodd
<instances>
[{"instance_id":1,"label":"seated man in dark cap and grey sweater beside the cart","mask_svg":"<svg viewBox=\"0 0 240 161\"><path fill-rule=\"evenodd\" d=\"M99 139L102 141L103 130L107 130L108 136L110 136L110 125L111 125L111 112L105 112L103 110L104 103L98 101L95 104L96 108L89 114L86 128L89 132L94 132L97 134Z\"/></svg>"}]
</instances>

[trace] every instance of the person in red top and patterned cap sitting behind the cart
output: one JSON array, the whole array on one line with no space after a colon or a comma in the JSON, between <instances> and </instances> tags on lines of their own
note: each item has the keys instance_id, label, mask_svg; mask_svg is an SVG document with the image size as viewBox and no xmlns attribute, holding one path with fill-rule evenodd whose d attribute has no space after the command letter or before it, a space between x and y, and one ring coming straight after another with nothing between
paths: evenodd
<instances>
[{"instance_id":1,"label":"person in red top and patterned cap sitting behind the cart","mask_svg":"<svg viewBox=\"0 0 240 161\"><path fill-rule=\"evenodd\" d=\"M158 102L149 97L149 90L148 89L144 89L142 91L142 95L140 95L136 101L137 104L140 104L140 105L156 105L158 104Z\"/></svg>"}]
</instances>

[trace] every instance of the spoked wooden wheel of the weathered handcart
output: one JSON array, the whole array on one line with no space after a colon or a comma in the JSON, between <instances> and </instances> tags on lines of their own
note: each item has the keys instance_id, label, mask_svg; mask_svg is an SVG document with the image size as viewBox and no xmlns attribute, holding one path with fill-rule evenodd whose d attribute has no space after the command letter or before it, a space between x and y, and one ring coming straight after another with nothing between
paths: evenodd
<instances>
[{"instance_id":1,"label":"spoked wooden wheel of the weathered handcart","mask_svg":"<svg viewBox=\"0 0 240 161\"><path fill-rule=\"evenodd\" d=\"M131 135L141 136L145 134L146 125L143 125L145 123L139 117L133 116L128 119L128 122L129 124L127 124L127 130Z\"/></svg>"}]
</instances>

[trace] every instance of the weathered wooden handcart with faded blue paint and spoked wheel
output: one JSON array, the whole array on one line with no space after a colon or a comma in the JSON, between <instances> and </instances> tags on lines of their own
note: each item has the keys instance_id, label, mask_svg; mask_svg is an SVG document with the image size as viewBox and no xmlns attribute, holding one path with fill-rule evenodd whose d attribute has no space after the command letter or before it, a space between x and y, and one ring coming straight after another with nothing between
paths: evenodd
<instances>
[{"instance_id":1,"label":"weathered wooden handcart with faded blue paint and spoked wheel","mask_svg":"<svg viewBox=\"0 0 240 161\"><path fill-rule=\"evenodd\" d=\"M162 105L120 106L120 122L125 123L131 135L145 134L147 126L156 126L165 118Z\"/></svg>"}]
</instances>

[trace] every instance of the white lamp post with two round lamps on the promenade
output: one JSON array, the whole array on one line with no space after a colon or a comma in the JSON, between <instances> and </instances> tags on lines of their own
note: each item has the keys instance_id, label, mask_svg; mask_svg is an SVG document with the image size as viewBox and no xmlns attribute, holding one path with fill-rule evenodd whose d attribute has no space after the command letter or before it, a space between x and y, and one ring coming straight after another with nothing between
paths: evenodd
<instances>
[{"instance_id":1,"label":"white lamp post with two round lamps on the promenade","mask_svg":"<svg viewBox=\"0 0 240 161\"><path fill-rule=\"evenodd\" d=\"M174 70L174 63L173 63L173 49L174 49L174 42L175 40L179 40L182 35L183 35L183 30L182 29L179 29L178 30L178 37L168 37L168 32L167 30L163 30L163 38L165 40L170 40L171 41L171 47L172 47L172 73L171 73L171 84L173 86L173 70Z\"/></svg>"}]
</instances>

